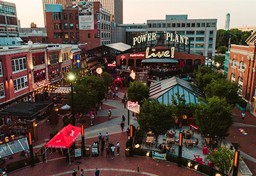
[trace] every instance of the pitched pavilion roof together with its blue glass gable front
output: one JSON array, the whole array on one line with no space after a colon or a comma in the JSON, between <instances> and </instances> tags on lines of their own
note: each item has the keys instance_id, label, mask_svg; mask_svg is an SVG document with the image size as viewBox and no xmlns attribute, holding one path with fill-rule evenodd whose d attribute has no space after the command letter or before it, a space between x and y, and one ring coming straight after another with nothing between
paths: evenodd
<instances>
[{"instance_id":1,"label":"pitched pavilion roof together with its blue glass gable front","mask_svg":"<svg viewBox=\"0 0 256 176\"><path fill-rule=\"evenodd\" d=\"M205 99L204 93L195 84L175 76L151 84L148 99L157 99L163 104L172 104L172 95L177 98L175 93L184 94L186 104L189 102L197 103L198 97Z\"/></svg>"}]
</instances>

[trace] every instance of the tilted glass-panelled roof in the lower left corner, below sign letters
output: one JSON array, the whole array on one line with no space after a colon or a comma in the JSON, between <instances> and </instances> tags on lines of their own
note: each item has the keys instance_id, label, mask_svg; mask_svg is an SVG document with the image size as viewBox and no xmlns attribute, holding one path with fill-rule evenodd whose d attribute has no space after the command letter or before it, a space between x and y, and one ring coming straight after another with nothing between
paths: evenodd
<instances>
[{"instance_id":1,"label":"tilted glass-panelled roof in the lower left corner, below sign letters","mask_svg":"<svg viewBox=\"0 0 256 176\"><path fill-rule=\"evenodd\" d=\"M0 145L0 158L28 150L27 138L9 141Z\"/></svg>"}]
</instances>

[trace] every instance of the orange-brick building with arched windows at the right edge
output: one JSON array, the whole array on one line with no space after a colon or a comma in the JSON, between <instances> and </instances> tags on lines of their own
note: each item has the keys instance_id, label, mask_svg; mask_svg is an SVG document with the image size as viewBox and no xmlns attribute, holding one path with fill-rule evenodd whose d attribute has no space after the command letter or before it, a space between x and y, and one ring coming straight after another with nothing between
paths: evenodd
<instances>
[{"instance_id":1,"label":"orange-brick building with arched windows at the right edge","mask_svg":"<svg viewBox=\"0 0 256 176\"><path fill-rule=\"evenodd\" d=\"M228 79L237 82L239 85L239 95L247 100L255 109L256 76L255 76L255 56L256 56L256 31L246 40L248 46L231 45L230 60L228 64Z\"/></svg>"}]
</instances>

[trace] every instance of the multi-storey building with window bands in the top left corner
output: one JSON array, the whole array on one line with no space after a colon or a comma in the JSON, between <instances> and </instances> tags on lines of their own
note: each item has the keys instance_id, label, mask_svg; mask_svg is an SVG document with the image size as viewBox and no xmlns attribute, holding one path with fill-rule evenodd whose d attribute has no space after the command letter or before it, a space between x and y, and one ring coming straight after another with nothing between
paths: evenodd
<instances>
[{"instance_id":1,"label":"multi-storey building with window bands in the top left corner","mask_svg":"<svg viewBox=\"0 0 256 176\"><path fill-rule=\"evenodd\" d=\"M0 37L18 37L16 5L0 1Z\"/></svg>"}]
</instances>

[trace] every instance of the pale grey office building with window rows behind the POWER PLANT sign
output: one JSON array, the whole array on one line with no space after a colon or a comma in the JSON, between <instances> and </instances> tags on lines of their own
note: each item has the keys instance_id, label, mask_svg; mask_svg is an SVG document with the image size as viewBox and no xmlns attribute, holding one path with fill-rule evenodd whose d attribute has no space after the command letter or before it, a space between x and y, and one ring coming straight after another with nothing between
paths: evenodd
<instances>
[{"instance_id":1,"label":"pale grey office building with window rows behind the POWER PLANT sign","mask_svg":"<svg viewBox=\"0 0 256 176\"><path fill-rule=\"evenodd\" d=\"M217 19L188 19L188 15L166 15L164 20L147 20L147 33L170 32L189 37L190 49L213 58L216 45Z\"/></svg>"}]
</instances>

